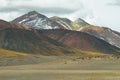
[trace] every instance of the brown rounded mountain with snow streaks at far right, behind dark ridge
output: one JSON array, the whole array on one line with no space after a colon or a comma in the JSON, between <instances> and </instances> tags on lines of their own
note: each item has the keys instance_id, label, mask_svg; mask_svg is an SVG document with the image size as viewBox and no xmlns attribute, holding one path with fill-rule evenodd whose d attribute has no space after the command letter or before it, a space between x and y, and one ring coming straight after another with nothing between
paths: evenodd
<instances>
[{"instance_id":1,"label":"brown rounded mountain with snow streaks at far right, behind dark ridge","mask_svg":"<svg viewBox=\"0 0 120 80\"><path fill-rule=\"evenodd\" d=\"M119 32L113 31L109 28L93 26L93 25L82 28L80 31L88 33L95 37L98 37L110 43L111 45L114 45L120 48L120 33Z\"/></svg>"}]
</instances>

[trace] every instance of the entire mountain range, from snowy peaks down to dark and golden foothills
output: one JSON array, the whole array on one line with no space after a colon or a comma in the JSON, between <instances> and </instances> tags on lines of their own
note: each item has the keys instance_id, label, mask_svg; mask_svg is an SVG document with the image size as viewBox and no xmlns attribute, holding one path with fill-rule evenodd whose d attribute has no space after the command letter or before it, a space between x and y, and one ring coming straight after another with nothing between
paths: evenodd
<instances>
[{"instance_id":1,"label":"entire mountain range, from snowy peaks down to dark and golden foothills","mask_svg":"<svg viewBox=\"0 0 120 80\"><path fill-rule=\"evenodd\" d=\"M0 20L0 54L5 56L6 51L45 56L120 54L120 33L80 18L48 18L31 11L10 22Z\"/></svg>"}]
</instances>

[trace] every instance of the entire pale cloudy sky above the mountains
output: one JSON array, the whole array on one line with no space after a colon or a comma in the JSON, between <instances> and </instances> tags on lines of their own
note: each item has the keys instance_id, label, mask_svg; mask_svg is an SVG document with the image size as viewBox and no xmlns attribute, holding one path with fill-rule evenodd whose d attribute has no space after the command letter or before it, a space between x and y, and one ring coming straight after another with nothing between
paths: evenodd
<instances>
[{"instance_id":1,"label":"entire pale cloudy sky above the mountains","mask_svg":"<svg viewBox=\"0 0 120 80\"><path fill-rule=\"evenodd\" d=\"M0 0L0 19L11 21L30 11L48 17L60 16L71 20L109 27L120 32L120 0Z\"/></svg>"}]
</instances>

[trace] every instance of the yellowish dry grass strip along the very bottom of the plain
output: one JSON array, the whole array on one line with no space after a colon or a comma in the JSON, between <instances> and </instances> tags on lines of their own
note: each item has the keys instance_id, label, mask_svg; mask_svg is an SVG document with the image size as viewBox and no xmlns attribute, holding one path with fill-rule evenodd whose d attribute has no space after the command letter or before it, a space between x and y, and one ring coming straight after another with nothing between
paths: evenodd
<instances>
[{"instance_id":1,"label":"yellowish dry grass strip along the very bottom of the plain","mask_svg":"<svg viewBox=\"0 0 120 80\"><path fill-rule=\"evenodd\" d=\"M120 80L120 71L6 70L1 80Z\"/></svg>"}]
</instances>

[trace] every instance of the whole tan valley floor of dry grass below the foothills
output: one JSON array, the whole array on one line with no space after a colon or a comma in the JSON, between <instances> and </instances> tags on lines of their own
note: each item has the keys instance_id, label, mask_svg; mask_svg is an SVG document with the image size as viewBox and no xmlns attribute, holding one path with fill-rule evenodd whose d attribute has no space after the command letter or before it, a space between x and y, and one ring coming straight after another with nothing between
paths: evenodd
<instances>
[{"instance_id":1,"label":"whole tan valley floor of dry grass below the foothills","mask_svg":"<svg viewBox=\"0 0 120 80\"><path fill-rule=\"evenodd\" d=\"M0 80L120 80L120 59L62 57L39 64L1 66Z\"/></svg>"}]
</instances>

